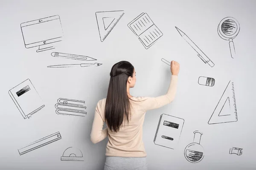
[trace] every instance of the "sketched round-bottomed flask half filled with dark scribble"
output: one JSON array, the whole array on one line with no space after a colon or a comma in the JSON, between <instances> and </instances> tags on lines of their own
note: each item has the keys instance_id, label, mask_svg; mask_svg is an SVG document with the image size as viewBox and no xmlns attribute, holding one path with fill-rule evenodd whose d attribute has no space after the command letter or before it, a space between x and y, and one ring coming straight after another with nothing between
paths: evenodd
<instances>
[{"instance_id":1,"label":"sketched round-bottomed flask half filled with dark scribble","mask_svg":"<svg viewBox=\"0 0 256 170\"><path fill-rule=\"evenodd\" d=\"M203 133L196 130L193 143L186 146L184 156L191 163L198 163L204 158L204 148L200 144Z\"/></svg>"}]
</instances>

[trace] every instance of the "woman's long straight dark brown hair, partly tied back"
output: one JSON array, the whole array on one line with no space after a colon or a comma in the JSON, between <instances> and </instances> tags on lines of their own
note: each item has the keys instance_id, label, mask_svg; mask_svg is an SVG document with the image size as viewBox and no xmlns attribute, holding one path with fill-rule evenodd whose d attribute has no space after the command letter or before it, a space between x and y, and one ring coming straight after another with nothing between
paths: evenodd
<instances>
[{"instance_id":1,"label":"woman's long straight dark brown hair, partly tied back","mask_svg":"<svg viewBox=\"0 0 256 170\"><path fill-rule=\"evenodd\" d=\"M111 131L119 131L124 116L129 123L130 100L126 85L128 77L133 77L133 73L134 66L128 61L117 62L111 68L105 106L105 120Z\"/></svg>"}]
</instances>

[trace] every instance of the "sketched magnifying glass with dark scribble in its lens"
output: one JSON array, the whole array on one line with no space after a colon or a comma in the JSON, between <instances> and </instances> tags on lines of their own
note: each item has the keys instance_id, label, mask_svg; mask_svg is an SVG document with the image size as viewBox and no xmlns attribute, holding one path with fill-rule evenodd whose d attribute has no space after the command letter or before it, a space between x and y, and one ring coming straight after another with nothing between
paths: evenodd
<instances>
[{"instance_id":1,"label":"sketched magnifying glass with dark scribble in its lens","mask_svg":"<svg viewBox=\"0 0 256 170\"><path fill-rule=\"evenodd\" d=\"M233 39L240 31L239 22L233 17L226 17L218 25L218 34L224 40L229 40L230 54L234 58L236 55Z\"/></svg>"}]
</instances>

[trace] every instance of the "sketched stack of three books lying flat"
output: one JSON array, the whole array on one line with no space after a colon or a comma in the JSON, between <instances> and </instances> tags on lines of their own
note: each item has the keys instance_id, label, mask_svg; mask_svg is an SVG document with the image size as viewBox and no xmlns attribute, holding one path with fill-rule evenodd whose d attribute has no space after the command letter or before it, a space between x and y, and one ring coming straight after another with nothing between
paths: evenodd
<instances>
[{"instance_id":1,"label":"sketched stack of three books lying flat","mask_svg":"<svg viewBox=\"0 0 256 170\"><path fill-rule=\"evenodd\" d=\"M67 116L85 116L86 106L84 101L74 99L59 98L58 103L55 104L56 113Z\"/></svg>"}]
</instances>

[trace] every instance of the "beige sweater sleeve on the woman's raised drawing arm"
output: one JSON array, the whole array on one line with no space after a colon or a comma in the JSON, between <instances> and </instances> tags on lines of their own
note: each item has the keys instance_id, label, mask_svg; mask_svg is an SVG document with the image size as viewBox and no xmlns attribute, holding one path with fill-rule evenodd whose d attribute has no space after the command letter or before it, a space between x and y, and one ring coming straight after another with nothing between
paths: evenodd
<instances>
[{"instance_id":1,"label":"beige sweater sleeve on the woman's raised drawing arm","mask_svg":"<svg viewBox=\"0 0 256 170\"><path fill-rule=\"evenodd\" d=\"M143 110L148 111L151 109L157 109L171 103L174 100L177 91L177 79L178 76L172 75L169 89L165 95L146 97L145 100L140 104Z\"/></svg>"}]
</instances>

